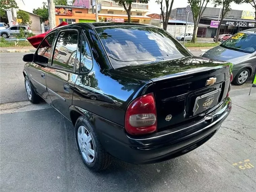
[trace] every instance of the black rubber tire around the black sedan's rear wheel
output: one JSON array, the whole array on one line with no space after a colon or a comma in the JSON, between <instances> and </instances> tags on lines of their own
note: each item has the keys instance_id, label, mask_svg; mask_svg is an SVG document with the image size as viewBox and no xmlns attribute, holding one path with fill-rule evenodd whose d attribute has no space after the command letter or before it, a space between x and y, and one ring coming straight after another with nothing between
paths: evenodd
<instances>
[{"instance_id":1,"label":"black rubber tire around the black sedan's rear wheel","mask_svg":"<svg viewBox=\"0 0 256 192\"><path fill-rule=\"evenodd\" d=\"M84 126L86 128L86 131L89 132L89 134L91 135L91 138L92 138L92 142L93 142L93 146L94 146L93 148L94 148L94 151L95 151L95 156L94 156L93 162L91 162L91 163L86 161L86 159L83 157L80 146L78 144L77 133L78 133L79 127L81 127L81 126ZM75 123L75 140L76 140L76 146L77 146L78 152L81 155L84 164L89 169L91 169L92 171L101 171L101 170L107 168L110 165L111 156L105 151L105 149L101 145L100 140L98 138L98 135L95 132L95 130L93 129L93 127L91 126L90 122L88 122L86 120L86 118L83 117L83 116L78 117L78 119L76 120L76 123Z\"/></svg>"}]
</instances>

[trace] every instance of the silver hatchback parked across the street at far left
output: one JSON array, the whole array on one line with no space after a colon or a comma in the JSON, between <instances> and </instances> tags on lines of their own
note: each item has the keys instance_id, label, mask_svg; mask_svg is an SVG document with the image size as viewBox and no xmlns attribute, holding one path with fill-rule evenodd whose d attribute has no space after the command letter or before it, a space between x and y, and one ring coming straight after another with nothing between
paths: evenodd
<instances>
[{"instance_id":1,"label":"silver hatchback parked across the street at far left","mask_svg":"<svg viewBox=\"0 0 256 192\"><path fill-rule=\"evenodd\" d=\"M15 37L15 36L19 35L20 29L24 29L25 37L28 35L28 33L32 33L29 26L14 25L14 26L11 26L11 27L9 27L5 30L0 30L0 36L2 36L3 38L8 38L8 37L11 37L11 36Z\"/></svg>"}]
</instances>

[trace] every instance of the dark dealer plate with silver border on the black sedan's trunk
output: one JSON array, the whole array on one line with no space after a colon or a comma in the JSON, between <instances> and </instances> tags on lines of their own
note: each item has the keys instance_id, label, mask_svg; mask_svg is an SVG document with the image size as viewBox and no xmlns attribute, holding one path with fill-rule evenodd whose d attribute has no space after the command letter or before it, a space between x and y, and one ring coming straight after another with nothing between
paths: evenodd
<instances>
[{"instance_id":1,"label":"dark dealer plate with silver border on the black sedan's trunk","mask_svg":"<svg viewBox=\"0 0 256 192\"><path fill-rule=\"evenodd\" d=\"M220 93L221 89L218 89L216 91L206 93L204 95L197 97L193 109L194 115L202 113L203 111L217 105Z\"/></svg>"}]
</instances>

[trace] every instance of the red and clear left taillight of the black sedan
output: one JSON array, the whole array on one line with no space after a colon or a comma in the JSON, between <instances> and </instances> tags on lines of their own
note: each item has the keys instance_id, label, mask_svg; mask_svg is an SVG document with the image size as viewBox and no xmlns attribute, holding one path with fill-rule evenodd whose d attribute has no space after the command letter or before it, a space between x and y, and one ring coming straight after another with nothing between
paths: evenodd
<instances>
[{"instance_id":1,"label":"red and clear left taillight of the black sedan","mask_svg":"<svg viewBox=\"0 0 256 192\"><path fill-rule=\"evenodd\" d=\"M153 93L132 101L125 113L125 129L129 134L146 134L157 130L156 102Z\"/></svg>"}]
</instances>

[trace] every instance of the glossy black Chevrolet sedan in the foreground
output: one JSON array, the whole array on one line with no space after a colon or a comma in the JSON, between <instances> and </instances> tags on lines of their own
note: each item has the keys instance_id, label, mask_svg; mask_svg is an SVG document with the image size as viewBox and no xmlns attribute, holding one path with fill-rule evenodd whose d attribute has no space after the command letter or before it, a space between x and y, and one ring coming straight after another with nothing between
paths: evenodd
<instances>
[{"instance_id":1,"label":"glossy black Chevrolet sedan in the foreground","mask_svg":"<svg viewBox=\"0 0 256 192\"><path fill-rule=\"evenodd\" d=\"M29 100L45 100L73 123L83 162L95 171L111 156L146 164L188 153L231 110L231 64L194 57L154 26L60 27L23 60Z\"/></svg>"}]
</instances>

